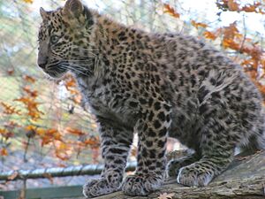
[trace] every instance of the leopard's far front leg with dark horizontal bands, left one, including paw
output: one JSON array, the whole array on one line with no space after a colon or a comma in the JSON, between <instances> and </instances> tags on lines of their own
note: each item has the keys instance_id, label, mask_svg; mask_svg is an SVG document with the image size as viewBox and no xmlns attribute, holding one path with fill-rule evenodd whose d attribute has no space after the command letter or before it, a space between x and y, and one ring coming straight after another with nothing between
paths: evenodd
<instances>
[{"instance_id":1,"label":"leopard's far front leg with dark horizontal bands, left one, including paw","mask_svg":"<svg viewBox=\"0 0 265 199\"><path fill-rule=\"evenodd\" d=\"M120 188L133 142L133 130L115 126L104 119L99 119L99 125L104 169L100 179L90 180L84 185L83 194L87 198L107 195Z\"/></svg>"}]
</instances>

